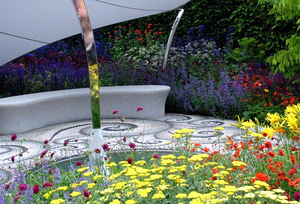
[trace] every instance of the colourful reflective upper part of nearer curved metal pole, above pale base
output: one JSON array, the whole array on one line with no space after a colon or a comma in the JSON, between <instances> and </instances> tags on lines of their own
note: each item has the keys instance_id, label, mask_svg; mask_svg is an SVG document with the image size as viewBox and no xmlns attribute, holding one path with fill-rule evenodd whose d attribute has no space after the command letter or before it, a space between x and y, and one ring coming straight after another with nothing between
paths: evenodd
<instances>
[{"instance_id":1,"label":"colourful reflective upper part of nearer curved metal pole, above pale base","mask_svg":"<svg viewBox=\"0 0 300 204\"><path fill-rule=\"evenodd\" d=\"M81 25L85 45L90 89L92 128L100 128L99 74L95 40L83 0L72 0Z\"/></svg>"}]
</instances>

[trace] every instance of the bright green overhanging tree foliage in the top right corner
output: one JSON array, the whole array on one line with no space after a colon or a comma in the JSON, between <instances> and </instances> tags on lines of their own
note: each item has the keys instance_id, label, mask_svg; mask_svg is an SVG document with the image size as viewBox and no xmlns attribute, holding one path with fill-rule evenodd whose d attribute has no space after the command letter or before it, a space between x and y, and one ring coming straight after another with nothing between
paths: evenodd
<instances>
[{"instance_id":1,"label":"bright green overhanging tree foliage in the top right corner","mask_svg":"<svg viewBox=\"0 0 300 204\"><path fill-rule=\"evenodd\" d=\"M258 0L259 3L272 3L273 7L269 11L270 14L275 14L276 20L296 21L300 23L300 0ZM300 25L297 27L299 30ZM296 30L295 30L296 31ZM270 56L267 61L272 64L274 72L279 71L286 78L299 81L300 73L300 37L293 34L289 39L286 39L286 48L279 50L273 56Z\"/></svg>"}]
</instances>

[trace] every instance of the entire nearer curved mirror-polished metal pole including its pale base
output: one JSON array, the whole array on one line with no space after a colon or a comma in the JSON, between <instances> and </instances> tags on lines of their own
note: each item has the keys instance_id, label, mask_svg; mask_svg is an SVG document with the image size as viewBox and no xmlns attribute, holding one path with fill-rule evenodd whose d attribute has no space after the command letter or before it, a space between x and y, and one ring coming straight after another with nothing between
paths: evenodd
<instances>
[{"instance_id":1,"label":"entire nearer curved mirror-polished metal pole including its pale base","mask_svg":"<svg viewBox=\"0 0 300 204\"><path fill-rule=\"evenodd\" d=\"M89 166L94 172L99 170L107 175L108 171L106 169L104 160L104 157L106 156L105 151L102 149L99 153L95 152L95 149L101 149L101 146L104 143L103 135L100 129L99 74L95 40L84 1L72 0L72 2L81 25L89 73L92 127L89 138L89 150L91 152L89 156ZM96 166L99 166L99 168Z\"/></svg>"}]
</instances>

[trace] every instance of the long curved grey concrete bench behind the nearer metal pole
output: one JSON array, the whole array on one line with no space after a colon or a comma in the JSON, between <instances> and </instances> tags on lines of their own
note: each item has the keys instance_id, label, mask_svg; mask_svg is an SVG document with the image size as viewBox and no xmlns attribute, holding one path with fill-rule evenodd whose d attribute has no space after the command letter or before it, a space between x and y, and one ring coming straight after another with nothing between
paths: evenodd
<instances>
[{"instance_id":1,"label":"long curved grey concrete bench behind the nearer metal pole","mask_svg":"<svg viewBox=\"0 0 300 204\"><path fill-rule=\"evenodd\" d=\"M155 118L164 116L170 88L164 85L100 87L100 117ZM141 106L142 112L136 107ZM70 121L91 119L89 88L56 90L0 98L0 135Z\"/></svg>"}]
</instances>

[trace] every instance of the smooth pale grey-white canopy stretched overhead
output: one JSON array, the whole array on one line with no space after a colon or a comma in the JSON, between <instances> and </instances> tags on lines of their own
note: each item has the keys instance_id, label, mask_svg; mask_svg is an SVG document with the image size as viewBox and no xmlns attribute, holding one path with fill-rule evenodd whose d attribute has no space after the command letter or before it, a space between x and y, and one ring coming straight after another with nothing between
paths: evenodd
<instances>
[{"instance_id":1,"label":"smooth pale grey-white canopy stretched overhead","mask_svg":"<svg viewBox=\"0 0 300 204\"><path fill-rule=\"evenodd\" d=\"M189 0L85 0L93 28L167 12ZM81 32L71 0L1 0L0 65Z\"/></svg>"}]
</instances>

